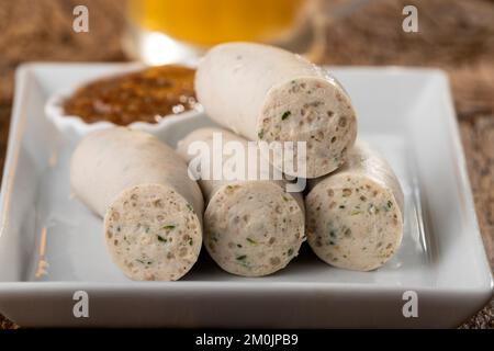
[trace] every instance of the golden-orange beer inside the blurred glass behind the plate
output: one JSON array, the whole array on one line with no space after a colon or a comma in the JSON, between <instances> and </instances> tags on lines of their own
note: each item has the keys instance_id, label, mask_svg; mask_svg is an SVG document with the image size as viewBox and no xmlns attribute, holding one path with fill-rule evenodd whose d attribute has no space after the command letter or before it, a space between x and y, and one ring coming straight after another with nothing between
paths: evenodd
<instances>
[{"instance_id":1,"label":"golden-orange beer inside the blurred glass behind the plate","mask_svg":"<svg viewBox=\"0 0 494 351\"><path fill-rule=\"evenodd\" d=\"M232 41L272 42L295 25L305 0L130 0L134 31L162 33L206 48Z\"/></svg>"}]
</instances>

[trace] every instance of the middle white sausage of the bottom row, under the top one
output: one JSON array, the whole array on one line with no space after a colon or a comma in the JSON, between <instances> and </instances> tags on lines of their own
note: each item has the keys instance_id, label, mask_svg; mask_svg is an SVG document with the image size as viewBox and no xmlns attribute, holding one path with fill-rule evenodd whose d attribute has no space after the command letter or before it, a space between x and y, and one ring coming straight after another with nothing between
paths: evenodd
<instances>
[{"instance_id":1,"label":"middle white sausage of the bottom row, under the top one","mask_svg":"<svg viewBox=\"0 0 494 351\"><path fill-rule=\"evenodd\" d=\"M226 131L203 128L179 143L179 154L190 160L188 147L198 140L212 149L213 133L221 133L224 141L247 144ZM222 166L228 162L224 156ZM212 172L210 162L202 165L201 176L207 176L205 169ZM299 193L287 193L283 181L201 179L199 183L207 200L204 245L223 270L261 276L281 270L297 256L305 240L303 200Z\"/></svg>"}]
</instances>

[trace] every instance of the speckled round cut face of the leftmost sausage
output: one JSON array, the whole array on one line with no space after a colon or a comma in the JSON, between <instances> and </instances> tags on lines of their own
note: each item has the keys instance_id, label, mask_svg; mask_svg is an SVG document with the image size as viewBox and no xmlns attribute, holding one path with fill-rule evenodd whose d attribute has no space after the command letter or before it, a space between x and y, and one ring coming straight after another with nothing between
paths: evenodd
<instances>
[{"instance_id":1,"label":"speckled round cut face of the leftmost sausage","mask_svg":"<svg viewBox=\"0 0 494 351\"><path fill-rule=\"evenodd\" d=\"M131 279L175 281L198 260L201 223L173 189L136 185L123 191L104 216L113 262Z\"/></svg>"}]
</instances>

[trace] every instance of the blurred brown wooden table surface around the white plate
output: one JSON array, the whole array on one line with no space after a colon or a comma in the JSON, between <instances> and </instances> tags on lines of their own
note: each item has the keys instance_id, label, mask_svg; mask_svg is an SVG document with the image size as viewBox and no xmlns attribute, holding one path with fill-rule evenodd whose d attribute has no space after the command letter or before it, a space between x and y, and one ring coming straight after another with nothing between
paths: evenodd
<instances>
[{"instance_id":1,"label":"blurred brown wooden table surface around the white plate","mask_svg":"<svg viewBox=\"0 0 494 351\"><path fill-rule=\"evenodd\" d=\"M89 9L89 33L72 31L72 9L77 4ZM418 33L401 30L405 4L418 8ZM7 148L15 67L33 60L126 60L121 48L124 3L120 0L0 0L0 165ZM316 23L322 31L311 47L312 58L322 64L427 66L449 73L491 268L494 267L492 19L493 0L375 0L361 5L349 18L334 21L319 11ZM15 327L0 315L0 328ZM494 302L461 328L494 328Z\"/></svg>"}]
</instances>

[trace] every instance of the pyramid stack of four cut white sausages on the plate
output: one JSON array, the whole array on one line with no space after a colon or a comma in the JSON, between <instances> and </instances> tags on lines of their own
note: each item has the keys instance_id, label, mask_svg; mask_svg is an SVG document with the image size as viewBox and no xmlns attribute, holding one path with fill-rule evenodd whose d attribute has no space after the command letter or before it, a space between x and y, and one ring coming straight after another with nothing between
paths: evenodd
<instances>
[{"instance_id":1,"label":"pyramid stack of four cut white sausages on the plate","mask_svg":"<svg viewBox=\"0 0 494 351\"><path fill-rule=\"evenodd\" d=\"M321 260L343 269L374 270L396 252L400 183L356 140L350 98L326 70L279 48L229 43L201 60L195 90L228 131L193 131L175 152L150 135L113 128L86 137L72 156L72 189L104 217L109 251L127 276L177 280L202 242L223 270L244 276L283 269L305 239ZM216 180L205 174L211 160L201 165L198 186L188 177L189 147L203 141L213 157L215 133L245 150L247 140L303 143L304 167L290 176L307 179L305 196L288 192L284 180ZM283 158L270 160L283 170Z\"/></svg>"}]
</instances>

